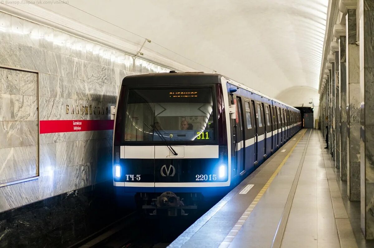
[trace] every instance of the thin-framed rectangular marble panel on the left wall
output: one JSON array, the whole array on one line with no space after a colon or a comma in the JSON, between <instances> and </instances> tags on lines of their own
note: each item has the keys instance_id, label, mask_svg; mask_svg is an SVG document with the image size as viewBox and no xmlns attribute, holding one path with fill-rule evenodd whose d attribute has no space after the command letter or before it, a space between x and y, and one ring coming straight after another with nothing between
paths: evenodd
<instances>
[{"instance_id":1,"label":"thin-framed rectangular marble panel on the left wall","mask_svg":"<svg viewBox=\"0 0 374 248\"><path fill-rule=\"evenodd\" d=\"M38 175L37 118L37 73L0 67L0 185Z\"/></svg>"}]
</instances>

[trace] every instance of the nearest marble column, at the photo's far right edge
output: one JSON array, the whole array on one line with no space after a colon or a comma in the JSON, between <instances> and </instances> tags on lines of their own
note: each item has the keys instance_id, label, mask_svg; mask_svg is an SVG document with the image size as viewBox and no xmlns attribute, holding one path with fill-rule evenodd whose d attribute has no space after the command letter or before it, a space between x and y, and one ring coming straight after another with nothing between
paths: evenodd
<instances>
[{"instance_id":1,"label":"nearest marble column, at the photo's far right edge","mask_svg":"<svg viewBox=\"0 0 374 248\"><path fill-rule=\"evenodd\" d=\"M374 0L360 0L361 228L374 239Z\"/></svg>"}]
</instances>

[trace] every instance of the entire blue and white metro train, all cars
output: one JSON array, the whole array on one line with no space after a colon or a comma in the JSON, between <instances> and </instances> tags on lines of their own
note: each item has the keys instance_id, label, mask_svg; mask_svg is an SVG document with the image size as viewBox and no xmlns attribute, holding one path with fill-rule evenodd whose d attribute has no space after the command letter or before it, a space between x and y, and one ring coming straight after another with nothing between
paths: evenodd
<instances>
[{"instance_id":1,"label":"entire blue and white metro train, all cars","mask_svg":"<svg viewBox=\"0 0 374 248\"><path fill-rule=\"evenodd\" d=\"M226 195L300 129L299 110L220 74L126 76L113 184L147 214L186 215Z\"/></svg>"}]
</instances>

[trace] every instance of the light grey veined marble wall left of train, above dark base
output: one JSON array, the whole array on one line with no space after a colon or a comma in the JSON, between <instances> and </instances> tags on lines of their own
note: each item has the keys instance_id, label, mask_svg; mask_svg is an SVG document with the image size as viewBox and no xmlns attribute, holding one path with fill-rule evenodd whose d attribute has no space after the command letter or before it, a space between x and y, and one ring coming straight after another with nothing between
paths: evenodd
<instances>
[{"instance_id":1,"label":"light grey veined marble wall left of train, above dark base","mask_svg":"<svg viewBox=\"0 0 374 248\"><path fill-rule=\"evenodd\" d=\"M141 59L135 60L120 51L3 12L0 12L0 24L0 65L38 72L39 120L110 119L110 113L67 114L66 105L110 107L116 104L119 85L126 75L169 71ZM9 139L9 144L30 147L30 151L13 152L10 159L14 164L18 163L16 159L26 158L25 154L35 154L38 137L35 135L35 112L27 112L22 107L34 108L34 92L37 89L25 78L30 75L12 72L5 69L0 71L1 80L13 77L12 87L7 84L0 88L0 121L25 121L16 126L1 122L0 136L16 135L12 136L11 141ZM19 77L18 83L15 83L14 77ZM12 107L14 112L10 111ZM34 135L30 136L30 133ZM39 134L39 178L0 187L0 213L112 180L112 135L112 130ZM6 150L9 147L1 146L4 143L0 144L0 165L4 164L4 154L10 154ZM23 173L20 167L12 168L9 165L0 169L15 170L15 175Z\"/></svg>"}]
</instances>

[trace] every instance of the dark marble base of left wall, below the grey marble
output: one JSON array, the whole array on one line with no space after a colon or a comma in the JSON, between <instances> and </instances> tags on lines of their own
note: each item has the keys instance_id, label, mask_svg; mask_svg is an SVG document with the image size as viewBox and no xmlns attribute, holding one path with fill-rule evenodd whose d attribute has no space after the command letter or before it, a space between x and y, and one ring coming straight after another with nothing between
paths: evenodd
<instances>
[{"instance_id":1,"label":"dark marble base of left wall, below the grey marble","mask_svg":"<svg viewBox=\"0 0 374 248\"><path fill-rule=\"evenodd\" d=\"M0 213L0 247L68 247L128 212L105 181Z\"/></svg>"}]
</instances>

